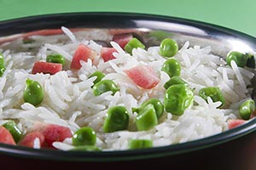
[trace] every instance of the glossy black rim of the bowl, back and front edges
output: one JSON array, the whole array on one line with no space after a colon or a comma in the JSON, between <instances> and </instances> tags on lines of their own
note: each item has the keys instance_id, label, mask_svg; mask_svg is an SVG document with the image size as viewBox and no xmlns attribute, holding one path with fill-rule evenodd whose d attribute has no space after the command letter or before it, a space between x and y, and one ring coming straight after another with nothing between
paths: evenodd
<instances>
[{"instance_id":1,"label":"glossy black rim of the bowl, back and front edges","mask_svg":"<svg viewBox=\"0 0 256 170\"><path fill-rule=\"evenodd\" d=\"M202 29L214 30L222 34L227 34L231 37L238 37L254 45L256 47L256 38L240 31L232 30L224 26L217 26L207 22L198 20L188 20L172 16L160 14L140 14L140 13L119 13L119 12L79 12L79 13L58 13L58 14L40 14L27 17L21 17L11 20L0 21L0 30L15 27L20 23L40 22L40 20L61 20L78 16L104 16L116 17L119 16L122 20L160 20L161 22L177 22L183 25L192 25ZM64 17L64 18L63 18ZM35 29L35 28L32 28ZM29 29L28 29L29 30ZM26 28L25 30L26 31ZM2 35L0 35L2 37ZM160 146L148 148L143 150L115 150L115 151L62 151L62 150L35 150L22 146L13 146L9 144L0 144L0 153L10 156L26 156L30 158L38 158L43 160L58 160L58 161L129 161L141 160L148 158L156 158L162 156L173 156L183 154L190 151L202 150L214 145L223 144L233 139L240 138L252 133L256 129L256 119L242 124L239 127L230 129L223 133L214 134L204 139L196 139L182 144L172 144L167 146Z\"/></svg>"}]
</instances>

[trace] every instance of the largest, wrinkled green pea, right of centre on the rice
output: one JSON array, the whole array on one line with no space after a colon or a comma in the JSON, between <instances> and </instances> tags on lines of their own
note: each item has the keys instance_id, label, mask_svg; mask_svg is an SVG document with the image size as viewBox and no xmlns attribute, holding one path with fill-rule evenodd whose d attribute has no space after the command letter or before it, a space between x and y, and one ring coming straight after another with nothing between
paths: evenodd
<instances>
[{"instance_id":1,"label":"largest, wrinkled green pea, right of centre on the rice","mask_svg":"<svg viewBox=\"0 0 256 170\"><path fill-rule=\"evenodd\" d=\"M175 84L167 88L164 97L164 107L167 112L173 115L183 115L194 102L192 90L184 84Z\"/></svg>"}]
</instances>

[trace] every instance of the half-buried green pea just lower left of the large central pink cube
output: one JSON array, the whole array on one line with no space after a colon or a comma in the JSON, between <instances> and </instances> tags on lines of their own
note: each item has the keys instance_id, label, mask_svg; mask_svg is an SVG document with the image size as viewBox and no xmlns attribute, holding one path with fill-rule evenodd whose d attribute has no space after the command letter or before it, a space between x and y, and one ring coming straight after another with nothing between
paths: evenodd
<instances>
[{"instance_id":1,"label":"half-buried green pea just lower left of the large central pink cube","mask_svg":"<svg viewBox=\"0 0 256 170\"><path fill-rule=\"evenodd\" d=\"M119 91L119 88L112 80L102 80L101 82L97 82L92 87L92 91L93 94L98 96L108 91L111 91L113 94L115 94L117 91Z\"/></svg>"}]
</instances>

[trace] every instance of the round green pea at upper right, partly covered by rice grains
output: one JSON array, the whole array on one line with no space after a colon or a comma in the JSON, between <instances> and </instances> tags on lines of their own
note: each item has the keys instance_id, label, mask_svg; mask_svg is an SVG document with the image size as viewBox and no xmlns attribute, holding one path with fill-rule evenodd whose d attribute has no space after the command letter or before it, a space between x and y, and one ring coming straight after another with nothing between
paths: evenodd
<instances>
[{"instance_id":1,"label":"round green pea at upper right, partly covered by rice grains","mask_svg":"<svg viewBox=\"0 0 256 170\"><path fill-rule=\"evenodd\" d=\"M239 67L245 67L247 65L247 55L241 54L237 51L231 51L227 57L227 65L231 66L231 60L234 60L236 62L236 65Z\"/></svg>"}]
</instances>

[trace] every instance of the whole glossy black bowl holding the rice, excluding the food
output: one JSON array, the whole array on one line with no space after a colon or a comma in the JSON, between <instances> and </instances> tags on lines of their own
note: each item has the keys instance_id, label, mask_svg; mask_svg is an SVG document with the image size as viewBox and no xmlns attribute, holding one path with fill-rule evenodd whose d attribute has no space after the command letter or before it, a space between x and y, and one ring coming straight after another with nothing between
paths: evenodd
<instances>
[{"instance_id":1,"label":"whole glossy black bowl holding the rice, excluding the food","mask_svg":"<svg viewBox=\"0 0 256 170\"><path fill-rule=\"evenodd\" d=\"M60 30L61 26L73 30L101 31L103 34L132 32L148 45L159 43L163 37L174 37L179 44L212 46L215 54L225 55L230 50L255 53L256 38L239 31L195 20L183 20L152 14L125 13L73 13L48 14L7 20L0 23L0 42L18 37L40 34L42 30ZM96 37L97 41L107 41ZM61 150L33 150L20 146L0 144L0 160L15 161L12 166L47 168L47 162L58 167L107 166L134 167L189 167L198 169L252 169L256 168L256 119L224 133L183 144L143 150L81 152ZM6 166L11 166L6 163ZM3 166L4 167L4 166ZM22 166L21 166L22 167ZM119 167L122 168L122 167Z\"/></svg>"}]
</instances>

